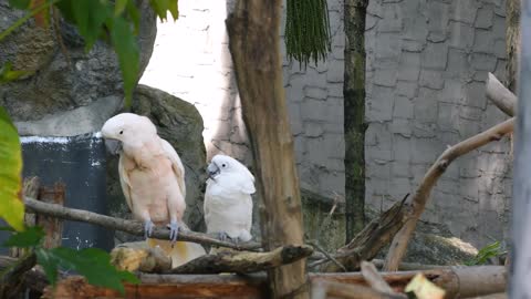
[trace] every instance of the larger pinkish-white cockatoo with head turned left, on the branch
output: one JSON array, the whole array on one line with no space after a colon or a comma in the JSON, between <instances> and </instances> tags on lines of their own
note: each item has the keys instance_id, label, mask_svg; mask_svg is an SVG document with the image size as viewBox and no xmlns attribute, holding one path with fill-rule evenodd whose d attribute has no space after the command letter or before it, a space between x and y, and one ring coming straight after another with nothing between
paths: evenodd
<instances>
[{"instance_id":1,"label":"larger pinkish-white cockatoo with head turned left, on the branch","mask_svg":"<svg viewBox=\"0 0 531 299\"><path fill-rule=\"evenodd\" d=\"M119 154L119 183L133 216L144 221L146 238L155 225L168 225L170 240L147 239L160 246L176 267L205 254L200 245L178 241L186 209L185 167L174 147L157 134L146 116L122 113L102 127L107 150ZM174 246L175 245L175 246Z\"/></svg>"}]
</instances>

